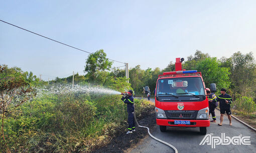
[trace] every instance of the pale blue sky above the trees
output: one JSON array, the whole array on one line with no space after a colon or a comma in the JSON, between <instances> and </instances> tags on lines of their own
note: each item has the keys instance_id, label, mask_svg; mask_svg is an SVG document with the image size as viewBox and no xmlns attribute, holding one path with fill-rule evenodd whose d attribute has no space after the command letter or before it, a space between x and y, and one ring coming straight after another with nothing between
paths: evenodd
<instances>
[{"instance_id":1,"label":"pale blue sky above the trees","mask_svg":"<svg viewBox=\"0 0 256 153\"><path fill-rule=\"evenodd\" d=\"M197 49L218 59L256 57L255 8L255 0L1 0L0 19L88 52L103 49L129 68L163 69ZM0 21L0 64L52 80L84 74L87 56Z\"/></svg>"}]
</instances>

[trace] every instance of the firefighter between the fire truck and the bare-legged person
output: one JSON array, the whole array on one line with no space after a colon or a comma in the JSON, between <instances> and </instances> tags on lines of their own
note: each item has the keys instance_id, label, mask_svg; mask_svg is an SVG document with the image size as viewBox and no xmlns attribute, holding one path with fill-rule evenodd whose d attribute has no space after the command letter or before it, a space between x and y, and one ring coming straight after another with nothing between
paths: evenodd
<instances>
[{"instance_id":1,"label":"firefighter between the fire truck and the bare-legged person","mask_svg":"<svg viewBox=\"0 0 256 153\"><path fill-rule=\"evenodd\" d=\"M213 119L211 120L211 122L216 122L215 108L218 106L218 102L215 101L216 95L214 93L211 93L211 90L209 88L206 88L206 93L209 101L209 111Z\"/></svg>"}]
</instances>

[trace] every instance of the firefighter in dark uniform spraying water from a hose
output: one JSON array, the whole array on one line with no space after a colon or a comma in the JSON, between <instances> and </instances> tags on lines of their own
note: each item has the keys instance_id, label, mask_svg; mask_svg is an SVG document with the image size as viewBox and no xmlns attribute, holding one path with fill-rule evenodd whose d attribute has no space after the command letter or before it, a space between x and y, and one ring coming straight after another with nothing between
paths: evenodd
<instances>
[{"instance_id":1,"label":"firefighter in dark uniform spraying water from a hose","mask_svg":"<svg viewBox=\"0 0 256 153\"><path fill-rule=\"evenodd\" d=\"M127 93L127 94L126 94ZM121 100L124 103L127 103L127 112L128 112L128 131L126 134L133 133L135 130L135 119L134 119L134 97L133 90L129 90L123 94Z\"/></svg>"}]
</instances>

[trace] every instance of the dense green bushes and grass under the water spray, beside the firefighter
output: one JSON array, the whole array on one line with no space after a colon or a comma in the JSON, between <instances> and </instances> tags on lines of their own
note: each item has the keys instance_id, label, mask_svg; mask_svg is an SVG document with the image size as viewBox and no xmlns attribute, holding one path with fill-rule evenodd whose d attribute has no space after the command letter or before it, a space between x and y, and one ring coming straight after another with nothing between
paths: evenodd
<instances>
[{"instance_id":1,"label":"dense green bushes and grass under the water spray, beside the firefighter","mask_svg":"<svg viewBox=\"0 0 256 153\"><path fill-rule=\"evenodd\" d=\"M135 104L137 116L149 109L147 100ZM125 130L126 120L121 95L51 94L23 104L8 117L5 131L14 152L83 152Z\"/></svg>"}]
</instances>

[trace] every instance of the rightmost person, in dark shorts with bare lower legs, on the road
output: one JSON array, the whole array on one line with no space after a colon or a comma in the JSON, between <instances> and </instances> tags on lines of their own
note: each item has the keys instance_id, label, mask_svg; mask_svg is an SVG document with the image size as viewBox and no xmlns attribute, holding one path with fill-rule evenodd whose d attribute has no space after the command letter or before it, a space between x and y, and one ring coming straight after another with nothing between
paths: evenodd
<instances>
[{"instance_id":1,"label":"rightmost person, in dark shorts with bare lower legs, on the road","mask_svg":"<svg viewBox=\"0 0 256 153\"><path fill-rule=\"evenodd\" d=\"M220 123L218 125L219 126L222 125L225 112L227 113L227 117L229 119L229 125L232 125L231 110L230 110L230 104L232 103L232 97L226 93L225 88L221 88L220 93L221 94L215 99L216 102L219 101L219 108L220 108Z\"/></svg>"}]
</instances>

